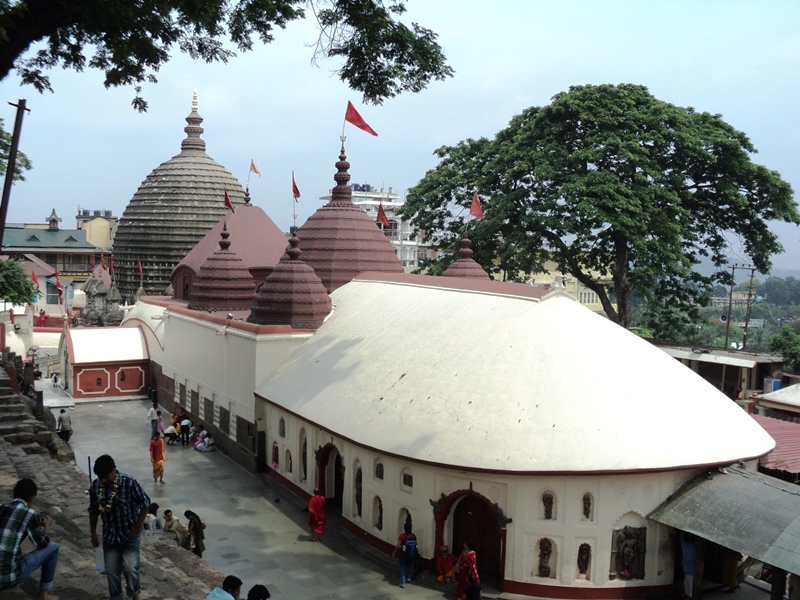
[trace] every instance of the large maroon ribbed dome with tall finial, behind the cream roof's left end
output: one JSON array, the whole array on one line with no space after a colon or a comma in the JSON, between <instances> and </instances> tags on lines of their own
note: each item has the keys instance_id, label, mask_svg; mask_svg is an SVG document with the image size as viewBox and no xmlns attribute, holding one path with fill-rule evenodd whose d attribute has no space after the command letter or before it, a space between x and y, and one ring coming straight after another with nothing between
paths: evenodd
<instances>
[{"instance_id":1,"label":"large maroon ribbed dome with tall finial, behind the cream roof's left end","mask_svg":"<svg viewBox=\"0 0 800 600\"><path fill-rule=\"evenodd\" d=\"M330 201L298 230L303 260L329 293L365 271L403 272L392 243L367 213L353 204L353 193L347 186L349 168L342 146Z\"/></svg>"}]
</instances>

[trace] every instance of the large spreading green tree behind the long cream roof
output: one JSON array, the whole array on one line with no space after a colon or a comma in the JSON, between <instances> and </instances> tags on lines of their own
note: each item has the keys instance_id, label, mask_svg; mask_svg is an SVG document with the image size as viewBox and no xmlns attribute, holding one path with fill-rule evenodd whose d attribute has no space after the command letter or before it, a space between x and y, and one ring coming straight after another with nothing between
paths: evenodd
<instances>
[{"instance_id":1,"label":"large spreading green tree behind the long cream roof","mask_svg":"<svg viewBox=\"0 0 800 600\"><path fill-rule=\"evenodd\" d=\"M800 223L790 185L754 152L719 115L643 86L576 86L494 139L436 150L439 165L403 212L426 240L455 248L477 190L486 219L469 235L495 276L521 279L553 260L623 326L635 294L661 336L687 326L715 282L729 283L732 240L768 272L782 250L768 221ZM716 272L698 273L701 261Z\"/></svg>"}]
</instances>

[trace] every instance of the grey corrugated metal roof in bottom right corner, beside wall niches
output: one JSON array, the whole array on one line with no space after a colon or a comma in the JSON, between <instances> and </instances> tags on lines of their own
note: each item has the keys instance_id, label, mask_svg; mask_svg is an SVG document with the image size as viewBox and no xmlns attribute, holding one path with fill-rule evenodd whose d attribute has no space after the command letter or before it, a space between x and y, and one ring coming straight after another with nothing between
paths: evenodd
<instances>
[{"instance_id":1,"label":"grey corrugated metal roof in bottom right corner, beside wall niches","mask_svg":"<svg viewBox=\"0 0 800 600\"><path fill-rule=\"evenodd\" d=\"M800 486L740 467L692 479L648 517L800 574Z\"/></svg>"}]
</instances>

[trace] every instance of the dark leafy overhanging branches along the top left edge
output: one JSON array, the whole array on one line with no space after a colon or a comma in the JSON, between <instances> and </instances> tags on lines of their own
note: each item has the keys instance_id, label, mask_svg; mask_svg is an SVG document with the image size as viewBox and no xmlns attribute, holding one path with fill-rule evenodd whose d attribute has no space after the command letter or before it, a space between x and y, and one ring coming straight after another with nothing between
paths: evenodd
<instances>
[{"instance_id":1,"label":"dark leafy overhanging branches along the top left edge","mask_svg":"<svg viewBox=\"0 0 800 600\"><path fill-rule=\"evenodd\" d=\"M434 32L395 20L405 12L398 0L0 0L0 81L16 69L23 83L52 91L45 70L96 68L106 87L134 86L133 105L146 110L141 84L156 81L174 49L227 62L227 40L242 52L268 44L307 9L320 27L314 60L343 58L339 77L365 102L453 74Z\"/></svg>"}]
</instances>

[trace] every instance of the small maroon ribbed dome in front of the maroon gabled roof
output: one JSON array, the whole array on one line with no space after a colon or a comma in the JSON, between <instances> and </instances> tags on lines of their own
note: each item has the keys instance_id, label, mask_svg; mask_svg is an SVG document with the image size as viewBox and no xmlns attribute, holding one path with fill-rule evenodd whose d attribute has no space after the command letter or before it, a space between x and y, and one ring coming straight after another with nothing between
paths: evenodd
<instances>
[{"instance_id":1,"label":"small maroon ribbed dome in front of the maroon gabled roof","mask_svg":"<svg viewBox=\"0 0 800 600\"><path fill-rule=\"evenodd\" d=\"M189 296L193 310L247 310L253 302L256 284L247 266L231 252L230 234L223 226L219 250L200 267Z\"/></svg>"}]
</instances>

